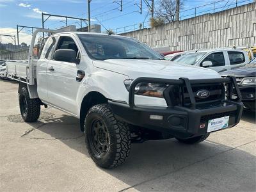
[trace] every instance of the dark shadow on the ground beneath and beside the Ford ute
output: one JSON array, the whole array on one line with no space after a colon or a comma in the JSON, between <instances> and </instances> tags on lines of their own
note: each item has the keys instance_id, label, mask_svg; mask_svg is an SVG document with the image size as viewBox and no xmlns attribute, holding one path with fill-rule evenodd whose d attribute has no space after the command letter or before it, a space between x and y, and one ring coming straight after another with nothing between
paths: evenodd
<instances>
[{"instance_id":1,"label":"dark shadow on the ground beneath and beside the Ford ute","mask_svg":"<svg viewBox=\"0 0 256 192\"><path fill-rule=\"evenodd\" d=\"M40 137L57 138L89 157L79 120L73 116L44 120L37 131ZM33 132L28 137L36 138ZM124 164L100 169L139 191L254 191L255 162L252 154L214 143L210 136L198 145L184 145L175 139L132 144Z\"/></svg>"}]
</instances>

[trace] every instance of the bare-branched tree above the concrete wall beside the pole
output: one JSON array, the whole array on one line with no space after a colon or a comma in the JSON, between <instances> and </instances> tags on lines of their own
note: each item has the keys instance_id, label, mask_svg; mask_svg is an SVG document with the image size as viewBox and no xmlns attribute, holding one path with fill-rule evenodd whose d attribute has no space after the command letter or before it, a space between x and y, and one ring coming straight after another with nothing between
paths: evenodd
<instances>
[{"instance_id":1,"label":"bare-branched tree above the concrete wall beside the pole","mask_svg":"<svg viewBox=\"0 0 256 192\"><path fill-rule=\"evenodd\" d=\"M178 6L177 3L179 3ZM155 14L157 17L161 17L166 20L166 22L173 22L175 20L176 13L179 15L179 10L182 9L182 6L182 0L159 0L158 6L155 8ZM179 10L177 10L177 8Z\"/></svg>"}]
</instances>

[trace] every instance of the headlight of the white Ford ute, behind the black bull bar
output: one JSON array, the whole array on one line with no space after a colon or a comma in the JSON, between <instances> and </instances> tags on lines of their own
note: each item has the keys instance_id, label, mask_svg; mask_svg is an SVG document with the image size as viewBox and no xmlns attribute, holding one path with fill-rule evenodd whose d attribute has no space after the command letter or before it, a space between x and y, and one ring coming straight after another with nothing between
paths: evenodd
<instances>
[{"instance_id":1,"label":"headlight of the white Ford ute, behind the black bull bar","mask_svg":"<svg viewBox=\"0 0 256 192\"><path fill-rule=\"evenodd\" d=\"M125 88L129 92L130 85L133 80L127 79L124 81ZM162 83L139 83L135 87L136 95L143 95L148 97L160 97L163 98L163 92L168 87L168 84Z\"/></svg>"}]
</instances>

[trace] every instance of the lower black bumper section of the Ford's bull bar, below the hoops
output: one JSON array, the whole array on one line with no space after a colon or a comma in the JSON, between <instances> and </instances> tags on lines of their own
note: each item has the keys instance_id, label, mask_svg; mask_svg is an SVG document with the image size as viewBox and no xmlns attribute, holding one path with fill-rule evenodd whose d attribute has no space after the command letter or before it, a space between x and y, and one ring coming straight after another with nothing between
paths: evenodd
<instances>
[{"instance_id":1,"label":"lower black bumper section of the Ford's bull bar, below the hoops","mask_svg":"<svg viewBox=\"0 0 256 192\"><path fill-rule=\"evenodd\" d=\"M175 137L189 138L205 134L208 120L230 116L228 127L239 123L243 112L242 102L220 102L211 108L198 106L196 109L175 107L130 108L127 104L109 101L116 118L132 125L145 127L159 132L168 132ZM152 115L163 116L162 120L150 118Z\"/></svg>"}]
</instances>

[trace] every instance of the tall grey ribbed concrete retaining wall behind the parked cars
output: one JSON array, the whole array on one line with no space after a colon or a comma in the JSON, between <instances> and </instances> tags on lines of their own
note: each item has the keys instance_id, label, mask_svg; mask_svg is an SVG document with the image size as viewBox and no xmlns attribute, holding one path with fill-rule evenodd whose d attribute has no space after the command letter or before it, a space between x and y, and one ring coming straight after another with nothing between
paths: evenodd
<instances>
[{"instance_id":1,"label":"tall grey ribbed concrete retaining wall behind the parked cars","mask_svg":"<svg viewBox=\"0 0 256 192\"><path fill-rule=\"evenodd\" d=\"M121 34L171 51L256 45L256 3Z\"/></svg>"}]
</instances>

